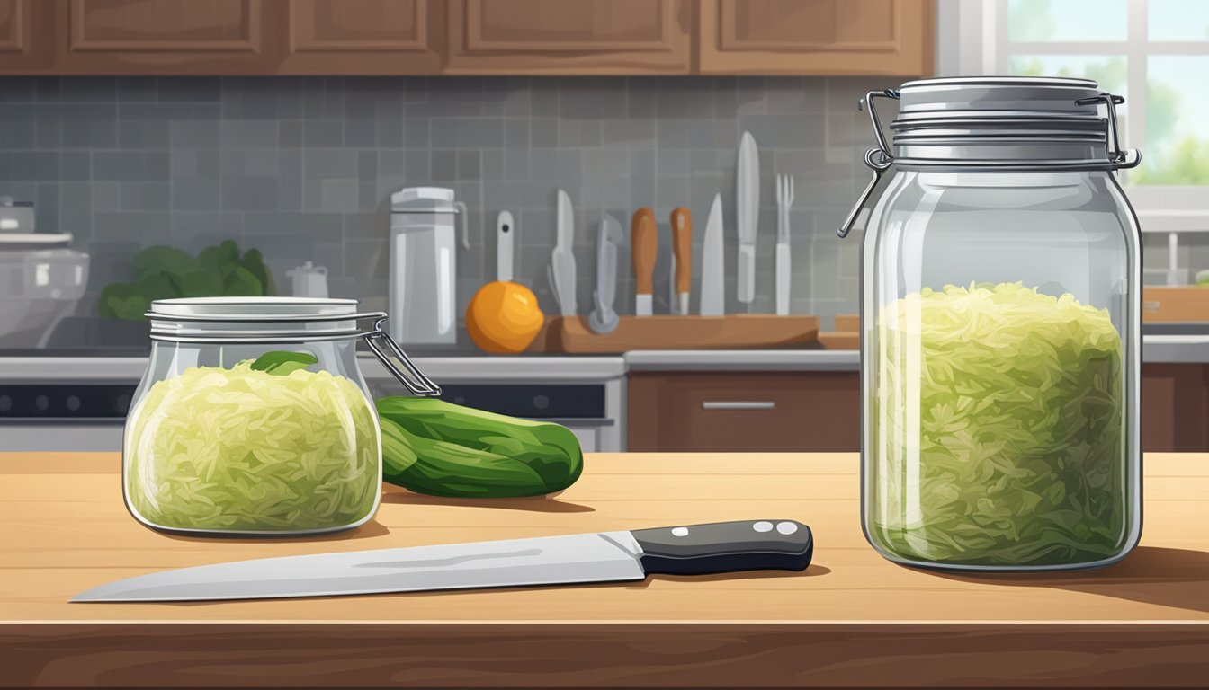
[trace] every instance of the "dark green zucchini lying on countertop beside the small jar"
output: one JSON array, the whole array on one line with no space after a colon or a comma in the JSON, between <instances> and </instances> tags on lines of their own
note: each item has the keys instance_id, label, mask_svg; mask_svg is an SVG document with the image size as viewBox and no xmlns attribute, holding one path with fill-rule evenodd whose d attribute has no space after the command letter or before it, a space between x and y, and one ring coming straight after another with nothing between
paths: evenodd
<instances>
[{"instance_id":1,"label":"dark green zucchini lying on countertop beside the small jar","mask_svg":"<svg viewBox=\"0 0 1209 690\"><path fill-rule=\"evenodd\" d=\"M543 495L575 483L579 440L548 422L516 419L434 398L383 398L382 477L442 497Z\"/></svg>"}]
</instances>

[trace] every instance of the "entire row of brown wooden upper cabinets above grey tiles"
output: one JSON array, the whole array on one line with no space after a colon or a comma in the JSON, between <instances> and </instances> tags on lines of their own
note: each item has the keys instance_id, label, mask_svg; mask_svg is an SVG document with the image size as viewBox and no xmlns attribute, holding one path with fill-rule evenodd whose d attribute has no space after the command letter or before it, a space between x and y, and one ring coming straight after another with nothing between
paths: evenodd
<instances>
[{"instance_id":1,"label":"entire row of brown wooden upper cabinets above grey tiles","mask_svg":"<svg viewBox=\"0 0 1209 690\"><path fill-rule=\"evenodd\" d=\"M0 0L0 74L915 76L932 0Z\"/></svg>"}]
</instances>

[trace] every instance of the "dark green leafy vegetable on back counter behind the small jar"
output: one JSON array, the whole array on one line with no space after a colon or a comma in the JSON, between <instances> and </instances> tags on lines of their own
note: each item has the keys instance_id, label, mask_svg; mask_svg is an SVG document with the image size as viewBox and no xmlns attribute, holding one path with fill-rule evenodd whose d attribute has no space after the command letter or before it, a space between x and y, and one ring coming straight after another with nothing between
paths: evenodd
<instances>
[{"instance_id":1,"label":"dark green leafy vegetable on back counter behind the small jar","mask_svg":"<svg viewBox=\"0 0 1209 690\"><path fill-rule=\"evenodd\" d=\"M172 247L149 247L131 259L133 283L100 291L98 312L106 319L143 320L154 300L174 297L260 297L274 294L273 277L259 250L243 256L229 240L207 247L195 259Z\"/></svg>"}]
</instances>

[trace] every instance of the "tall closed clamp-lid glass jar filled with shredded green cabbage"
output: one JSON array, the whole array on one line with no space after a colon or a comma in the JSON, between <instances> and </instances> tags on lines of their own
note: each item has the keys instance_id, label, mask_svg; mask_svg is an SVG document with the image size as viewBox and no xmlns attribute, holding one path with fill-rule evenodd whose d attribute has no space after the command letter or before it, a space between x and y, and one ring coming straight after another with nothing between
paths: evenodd
<instances>
[{"instance_id":1,"label":"tall closed clamp-lid glass jar filled with shredded green cabbage","mask_svg":"<svg viewBox=\"0 0 1209 690\"><path fill-rule=\"evenodd\" d=\"M899 99L893 152L878 97ZM931 568L1118 561L1141 532L1140 236L1115 176L1138 153L1116 144L1122 99L1084 80L988 77L864 103L874 179L840 236L879 191L862 261L866 537Z\"/></svg>"}]
</instances>

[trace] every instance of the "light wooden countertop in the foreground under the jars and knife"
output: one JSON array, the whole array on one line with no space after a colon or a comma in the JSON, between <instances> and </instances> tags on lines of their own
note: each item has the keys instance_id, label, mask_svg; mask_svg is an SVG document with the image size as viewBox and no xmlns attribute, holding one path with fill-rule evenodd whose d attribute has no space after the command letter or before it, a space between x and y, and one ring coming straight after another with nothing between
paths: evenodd
<instances>
[{"instance_id":1,"label":"light wooden countertop in the foreground under the jars and knife","mask_svg":"<svg viewBox=\"0 0 1209 690\"><path fill-rule=\"evenodd\" d=\"M4 685L1202 685L1209 456L1146 458L1143 545L1106 570L961 576L884 561L851 454L595 454L557 499L388 488L325 539L166 537L114 453L0 453ZM71 604L88 587L241 558L798 518L805 573L187 604Z\"/></svg>"}]
</instances>

